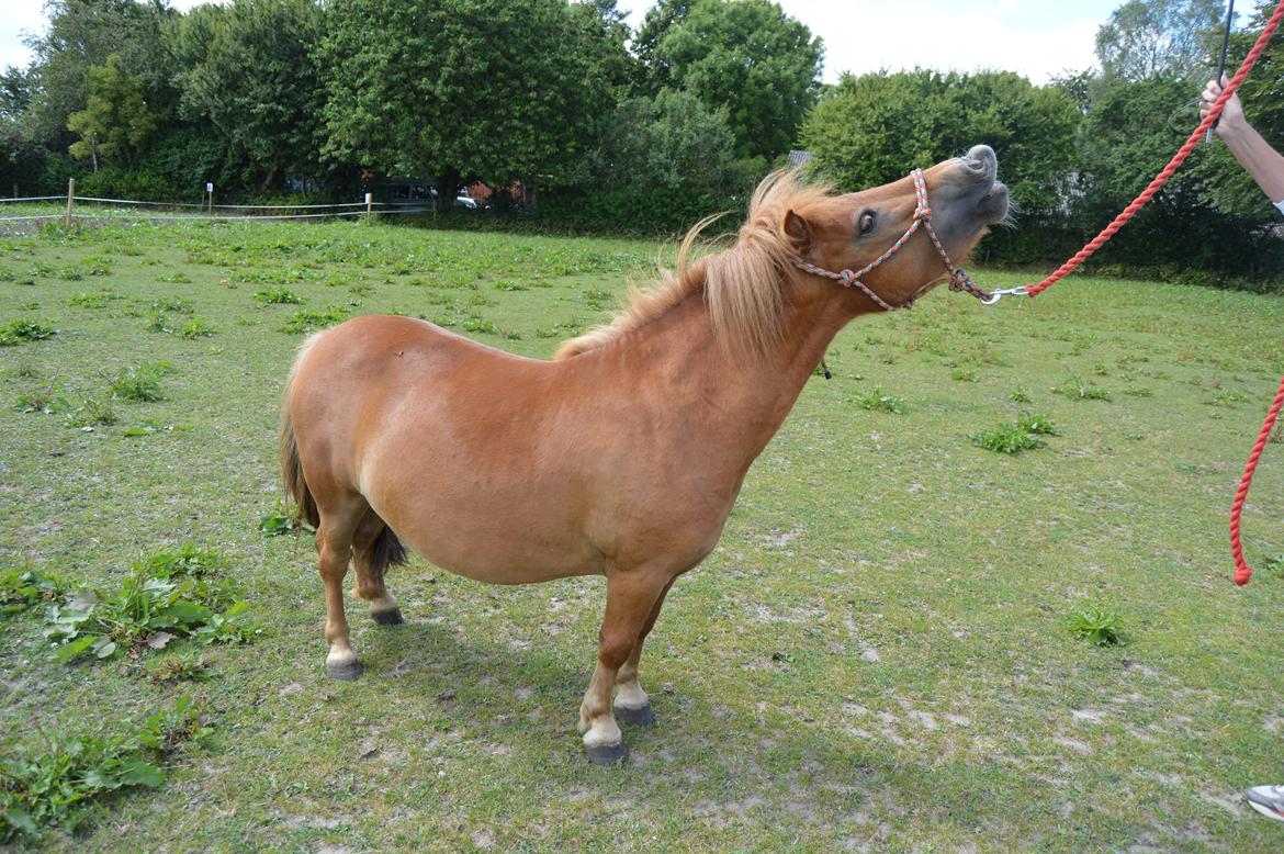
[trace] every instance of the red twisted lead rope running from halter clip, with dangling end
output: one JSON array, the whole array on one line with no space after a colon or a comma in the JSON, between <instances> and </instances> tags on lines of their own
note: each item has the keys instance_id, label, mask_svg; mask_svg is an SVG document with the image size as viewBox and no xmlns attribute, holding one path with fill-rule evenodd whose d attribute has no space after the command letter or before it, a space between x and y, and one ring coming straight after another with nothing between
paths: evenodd
<instances>
[{"instance_id":1,"label":"red twisted lead rope running from halter clip, with dangling end","mask_svg":"<svg viewBox=\"0 0 1284 854\"><path fill-rule=\"evenodd\" d=\"M1254 44L1253 49L1248 51L1248 57L1244 58L1244 63L1239 67L1239 71L1235 72L1235 76L1226 85L1226 89L1222 90L1221 96L1216 100L1216 103L1213 103L1212 109L1208 110L1204 119L1199 122L1199 127L1194 130L1190 139L1188 139L1186 144L1181 146L1176 155L1174 155L1172 161L1163 167L1163 171L1159 172L1153 181L1150 181L1150 186L1145 187L1145 190L1141 191L1141 195L1136 196L1136 199L1132 200L1132 204L1127 205L1124 209L1124 213L1115 218L1115 222L1106 226L1104 231L1093 238L1091 243L1086 247L1080 249L1079 254L1063 263L1054 274L1040 281L1037 285L1028 285L1026 288L1026 293L1028 295L1037 297L1048 288L1053 286L1077 270L1080 265L1106 245L1106 243L1109 241L1109 239L1113 238L1120 229L1127 225L1127 222L1135 217L1161 189L1163 189L1163 185L1168 182L1172 173L1181 168L1181 164L1186 162L1190 153L1195 150L1197 145L1199 145L1199 139L1204 136L1204 134L1212 128L1216 121L1221 117L1221 112L1226 108L1226 101L1234 96L1235 91L1239 90L1239 85L1244 82L1244 78L1248 77L1253 65L1256 65L1257 60L1261 59L1262 53L1266 51L1266 46L1270 44L1275 31L1279 30L1281 21L1284 21L1284 0L1280 0L1280 3L1275 6L1275 14L1272 14L1271 19L1266 22L1266 28L1262 30L1262 35L1257 37L1257 44ZM1253 569L1244 561L1244 550L1239 543L1239 518L1244 510L1244 500L1248 497L1248 488L1253 483L1253 473L1257 471L1257 461L1261 458L1262 449L1270 439L1271 429L1275 426L1275 420L1279 417L1281 407L1284 407L1284 380L1280 381L1280 390L1275 394L1275 402L1271 405L1270 414L1266 416L1266 424L1262 425L1262 431L1257 437L1257 444L1253 446L1253 452L1248 457L1248 465L1244 466L1244 476L1239 482L1239 489L1235 492L1235 503L1231 505L1230 509L1230 551L1235 557L1235 583L1240 587L1247 584L1248 579L1253 577Z\"/></svg>"}]
</instances>

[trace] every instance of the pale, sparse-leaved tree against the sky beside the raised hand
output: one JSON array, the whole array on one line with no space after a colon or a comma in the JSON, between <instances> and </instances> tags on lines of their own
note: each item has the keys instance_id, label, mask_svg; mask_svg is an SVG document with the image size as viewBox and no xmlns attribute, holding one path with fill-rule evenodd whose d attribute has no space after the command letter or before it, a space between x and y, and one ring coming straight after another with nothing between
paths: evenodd
<instances>
[{"instance_id":1,"label":"pale, sparse-leaved tree against the sky beside the raised hand","mask_svg":"<svg viewBox=\"0 0 1284 854\"><path fill-rule=\"evenodd\" d=\"M1097 31L1102 74L1194 80L1208 67L1208 33L1224 14L1222 0L1127 0Z\"/></svg>"}]
</instances>

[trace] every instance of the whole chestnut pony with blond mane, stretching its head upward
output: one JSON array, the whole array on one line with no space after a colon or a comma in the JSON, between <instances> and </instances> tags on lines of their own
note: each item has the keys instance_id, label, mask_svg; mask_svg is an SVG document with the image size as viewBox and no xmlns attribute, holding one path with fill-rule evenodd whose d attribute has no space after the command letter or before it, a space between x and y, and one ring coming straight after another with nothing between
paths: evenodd
<instances>
[{"instance_id":1,"label":"whole chestnut pony with blond mane, stretching its head upward","mask_svg":"<svg viewBox=\"0 0 1284 854\"><path fill-rule=\"evenodd\" d=\"M922 176L942 250L959 258L1008 212L985 146ZM377 623L399 623L384 570L402 543L492 584L606 577L597 669L579 711L594 762L625 756L619 717L654 723L642 643L678 575L714 548L745 473L826 347L880 311L797 267L859 270L915 220L912 179L832 195L778 172L734 245L634 293L614 322L521 358L420 320L367 316L309 338L285 390L281 469L316 525L327 673L353 679L343 579ZM864 284L901 306L945 274L928 238ZM614 706L612 706L614 692Z\"/></svg>"}]
</instances>

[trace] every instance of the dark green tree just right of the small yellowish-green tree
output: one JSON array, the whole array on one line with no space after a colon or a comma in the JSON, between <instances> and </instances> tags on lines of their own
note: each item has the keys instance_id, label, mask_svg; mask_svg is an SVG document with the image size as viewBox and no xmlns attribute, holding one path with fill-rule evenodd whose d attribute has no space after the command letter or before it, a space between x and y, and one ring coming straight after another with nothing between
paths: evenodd
<instances>
[{"instance_id":1,"label":"dark green tree just right of the small yellowish-green tree","mask_svg":"<svg viewBox=\"0 0 1284 854\"><path fill-rule=\"evenodd\" d=\"M313 45L324 28L315 0L235 0L193 10L171 37L186 65L180 116L208 123L227 167L263 190L316 172L324 92Z\"/></svg>"}]
</instances>

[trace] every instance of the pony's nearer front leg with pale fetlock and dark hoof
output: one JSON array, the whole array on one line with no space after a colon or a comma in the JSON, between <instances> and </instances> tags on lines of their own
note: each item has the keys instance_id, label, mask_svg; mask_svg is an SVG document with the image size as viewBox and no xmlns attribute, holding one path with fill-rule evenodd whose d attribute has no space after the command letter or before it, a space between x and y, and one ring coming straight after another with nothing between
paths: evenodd
<instances>
[{"instance_id":1,"label":"pony's nearer front leg with pale fetlock and dark hoof","mask_svg":"<svg viewBox=\"0 0 1284 854\"><path fill-rule=\"evenodd\" d=\"M624 762L628 750L620 741L620 727L611 713L611 690L620 668L633 654L670 578L645 569L611 569L606 577L606 616L598 636L597 669L579 708L579 731L588 758L600 765Z\"/></svg>"}]
</instances>

